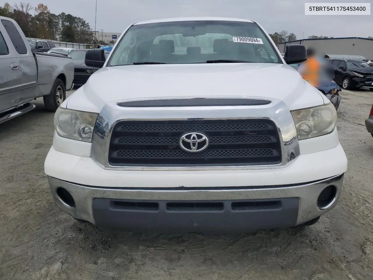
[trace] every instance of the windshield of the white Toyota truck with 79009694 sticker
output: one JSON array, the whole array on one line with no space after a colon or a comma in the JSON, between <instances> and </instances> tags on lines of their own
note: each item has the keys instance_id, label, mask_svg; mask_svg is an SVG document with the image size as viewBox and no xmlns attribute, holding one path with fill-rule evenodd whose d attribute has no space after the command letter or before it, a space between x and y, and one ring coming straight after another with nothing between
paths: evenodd
<instances>
[{"instance_id":1,"label":"windshield of the white Toyota truck with 79009694 sticker","mask_svg":"<svg viewBox=\"0 0 373 280\"><path fill-rule=\"evenodd\" d=\"M132 26L115 48L108 65L221 60L281 63L272 44L255 23L179 21Z\"/></svg>"}]
</instances>

